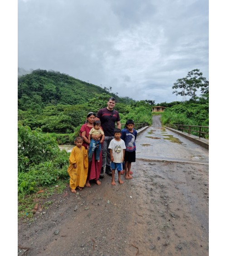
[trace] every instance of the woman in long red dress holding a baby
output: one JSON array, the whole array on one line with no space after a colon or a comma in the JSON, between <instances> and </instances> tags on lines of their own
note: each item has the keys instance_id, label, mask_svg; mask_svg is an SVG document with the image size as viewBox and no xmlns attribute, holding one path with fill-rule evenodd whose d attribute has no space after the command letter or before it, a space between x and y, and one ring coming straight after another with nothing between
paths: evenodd
<instances>
[{"instance_id":1,"label":"woman in long red dress holding a baby","mask_svg":"<svg viewBox=\"0 0 227 256\"><path fill-rule=\"evenodd\" d=\"M95 119L95 114L93 112L88 113L86 123L84 125L82 125L80 130L79 130L80 136L84 139L84 143L82 145L86 149L89 148L88 136L89 136L89 131L91 130L91 128L94 127L94 125L93 125L94 119ZM101 136L102 136L101 134L96 135L96 137L94 136L94 139L97 139ZM101 182L99 181L99 175L100 175L101 168L102 168L102 150L100 152L99 162L95 161L94 154L92 156L92 161L89 162L88 178L87 178L87 181L86 181L86 184L85 184L86 187L91 186L90 185L91 180L94 180L94 182L97 185L101 184Z\"/></svg>"}]
</instances>

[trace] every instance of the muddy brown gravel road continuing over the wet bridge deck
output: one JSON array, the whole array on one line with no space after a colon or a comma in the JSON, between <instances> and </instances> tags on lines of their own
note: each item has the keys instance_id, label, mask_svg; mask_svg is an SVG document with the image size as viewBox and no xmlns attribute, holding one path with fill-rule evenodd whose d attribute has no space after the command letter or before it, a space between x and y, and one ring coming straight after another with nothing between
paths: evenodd
<instances>
[{"instance_id":1,"label":"muddy brown gravel road continuing over the wet bridge deck","mask_svg":"<svg viewBox=\"0 0 227 256\"><path fill-rule=\"evenodd\" d=\"M153 133L163 132L158 121L149 129ZM105 175L100 186L92 184L79 195L67 187L46 199L49 209L18 222L18 255L208 256L208 150L167 140L163 145L171 146L174 157L148 159L152 146L163 140L143 143L149 137L144 133L136 141L140 153L132 163L133 179L123 177L122 185L112 186ZM180 155L177 161L175 146L181 152L195 147L201 159ZM143 152L144 159L138 157Z\"/></svg>"}]
</instances>

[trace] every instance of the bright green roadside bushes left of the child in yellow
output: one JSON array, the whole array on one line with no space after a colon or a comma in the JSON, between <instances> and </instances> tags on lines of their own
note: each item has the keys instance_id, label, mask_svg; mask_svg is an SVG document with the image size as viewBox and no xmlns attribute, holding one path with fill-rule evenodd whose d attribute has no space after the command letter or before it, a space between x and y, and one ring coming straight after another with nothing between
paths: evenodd
<instances>
[{"instance_id":1,"label":"bright green roadside bushes left of the child in yellow","mask_svg":"<svg viewBox=\"0 0 227 256\"><path fill-rule=\"evenodd\" d=\"M18 124L18 192L35 192L39 186L68 179L69 154L60 151L56 138L40 128Z\"/></svg>"}]
</instances>

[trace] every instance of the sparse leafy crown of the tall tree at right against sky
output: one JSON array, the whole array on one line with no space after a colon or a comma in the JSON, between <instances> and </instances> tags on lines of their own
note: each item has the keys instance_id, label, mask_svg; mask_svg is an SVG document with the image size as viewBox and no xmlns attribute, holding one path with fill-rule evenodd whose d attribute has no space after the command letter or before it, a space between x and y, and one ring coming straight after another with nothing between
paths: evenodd
<instances>
[{"instance_id":1,"label":"sparse leafy crown of the tall tree at right against sky","mask_svg":"<svg viewBox=\"0 0 227 256\"><path fill-rule=\"evenodd\" d=\"M205 77L202 76L202 72L199 72L198 69L194 69L188 72L188 75L184 78L179 78L174 84L172 89L173 93L176 95L181 95L183 101L186 101L186 96L190 96L192 100L197 99L197 90L202 92L208 88L209 82Z\"/></svg>"}]
</instances>

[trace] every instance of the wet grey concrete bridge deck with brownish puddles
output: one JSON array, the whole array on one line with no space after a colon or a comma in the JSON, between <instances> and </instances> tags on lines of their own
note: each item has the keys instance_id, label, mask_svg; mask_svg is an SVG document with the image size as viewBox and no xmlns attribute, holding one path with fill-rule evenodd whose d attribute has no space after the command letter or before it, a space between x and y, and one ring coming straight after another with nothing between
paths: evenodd
<instances>
[{"instance_id":1,"label":"wet grey concrete bridge deck with brownish puddles","mask_svg":"<svg viewBox=\"0 0 227 256\"><path fill-rule=\"evenodd\" d=\"M136 158L208 164L209 150L161 125L151 125L136 139Z\"/></svg>"}]
</instances>

